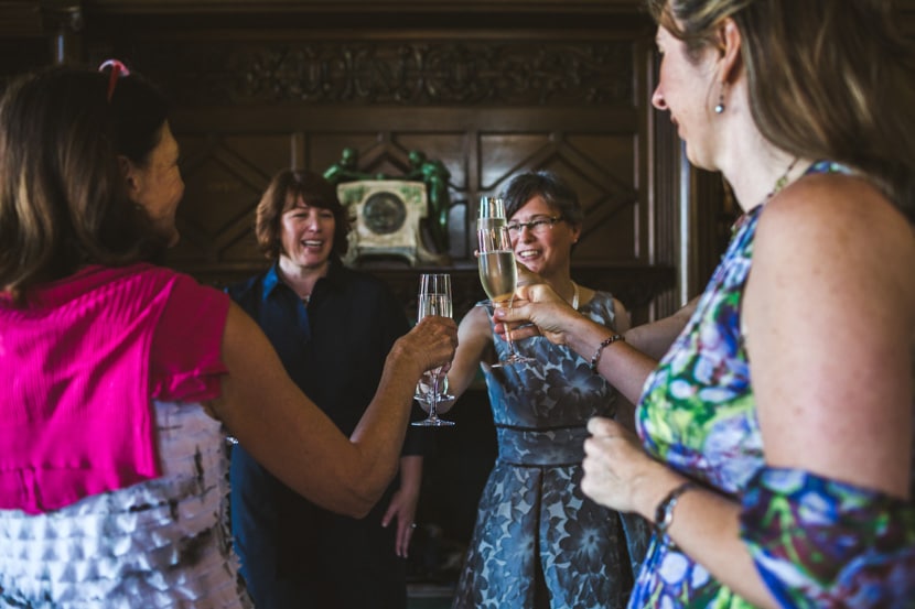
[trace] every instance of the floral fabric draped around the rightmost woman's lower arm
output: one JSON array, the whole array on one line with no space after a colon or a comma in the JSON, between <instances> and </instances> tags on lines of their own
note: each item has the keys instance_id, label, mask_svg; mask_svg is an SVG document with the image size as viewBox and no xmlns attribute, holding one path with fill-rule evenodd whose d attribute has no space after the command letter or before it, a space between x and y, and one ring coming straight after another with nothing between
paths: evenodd
<instances>
[{"instance_id":1,"label":"floral fabric draped around the rightmost woman's lower arm","mask_svg":"<svg viewBox=\"0 0 915 609\"><path fill-rule=\"evenodd\" d=\"M756 525L773 519L784 524ZM915 510L898 499L765 468L743 497L741 536L784 607L915 607Z\"/></svg>"}]
</instances>

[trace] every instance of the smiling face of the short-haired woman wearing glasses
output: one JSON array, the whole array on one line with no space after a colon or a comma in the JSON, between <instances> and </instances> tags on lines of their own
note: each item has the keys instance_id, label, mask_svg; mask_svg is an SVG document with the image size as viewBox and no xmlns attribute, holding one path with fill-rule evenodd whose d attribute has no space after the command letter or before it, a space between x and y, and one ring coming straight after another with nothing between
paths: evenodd
<instances>
[{"instance_id":1,"label":"smiling face of the short-haired woman wearing glasses","mask_svg":"<svg viewBox=\"0 0 915 609\"><path fill-rule=\"evenodd\" d=\"M535 195L508 219L508 225L548 220L561 215L542 196ZM581 229L559 220L552 228L546 224L538 229L524 227L509 232L515 258L531 272L551 278L560 272L568 273L572 244L578 241Z\"/></svg>"}]
</instances>

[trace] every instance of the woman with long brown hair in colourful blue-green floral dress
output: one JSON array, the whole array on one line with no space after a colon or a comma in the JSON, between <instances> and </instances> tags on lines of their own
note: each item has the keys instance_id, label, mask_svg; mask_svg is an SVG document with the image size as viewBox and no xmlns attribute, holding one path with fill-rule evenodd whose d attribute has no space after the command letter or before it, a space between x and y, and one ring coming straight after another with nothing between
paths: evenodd
<instances>
[{"instance_id":1,"label":"woman with long brown hair in colourful blue-green floral dress","mask_svg":"<svg viewBox=\"0 0 915 609\"><path fill-rule=\"evenodd\" d=\"M655 522L631 607L913 607L912 45L876 0L648 4L653 102L743 216L659 365L602 350L638 436L592 420L582 488ZM499 318L611 333L519 292Z\"/></svg>"}]
</instances>

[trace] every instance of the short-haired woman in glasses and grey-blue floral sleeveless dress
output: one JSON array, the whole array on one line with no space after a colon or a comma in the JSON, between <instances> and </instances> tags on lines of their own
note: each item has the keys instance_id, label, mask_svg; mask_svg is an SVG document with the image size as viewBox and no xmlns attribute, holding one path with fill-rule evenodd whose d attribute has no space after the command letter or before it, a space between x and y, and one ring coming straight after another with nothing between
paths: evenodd
<instances>
[{"instance_id":1,"label":"short-haired woman in glasses and grey-blue floral sleeveless dress","mask_svg":"<svg viewBox=\"0 0 915 609\"><path fill-rule=\"evenodd\" d=\"M525 269L595 324L627 328L617 300L571 280L582 221L574 192L555 174L524 173L508 185L505 204ZM631 422L632 405L617 403L589 360L543 337L516 341L532 362L491 368L508 355L491 314L477 306L461 322L449 371L460 394L482 365L499 447L453 606L622 609L645 554L647 523L591 501L580 482L588 420L618 414Z\"/></svg>"}]
</instances>

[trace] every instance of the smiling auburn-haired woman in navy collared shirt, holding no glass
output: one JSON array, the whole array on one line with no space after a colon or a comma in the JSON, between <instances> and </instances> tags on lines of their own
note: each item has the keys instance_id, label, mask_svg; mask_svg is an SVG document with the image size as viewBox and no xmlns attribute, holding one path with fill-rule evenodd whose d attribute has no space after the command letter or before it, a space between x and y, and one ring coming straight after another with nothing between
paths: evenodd
<instances>
[{"instance_id":1,"label":"smiling auburn-haired woman in navy collared shirt, holding no glass","mask_svg":"<svg viewBox=\"0 0 915 609\"><path fill-rule=\"evenodd\" d=\"M280 172L257 209L258 242L273 264L228 289L292 380L347 435L375 393L391 345L409 329L402 304L381 280L342 264L349 229L327 181ZM259 608L406 607L405 558L424 433L408 431L400 475L362 520L317 508L244 448L233 449L233 534Z\"/></svg>"}]
</instances>

